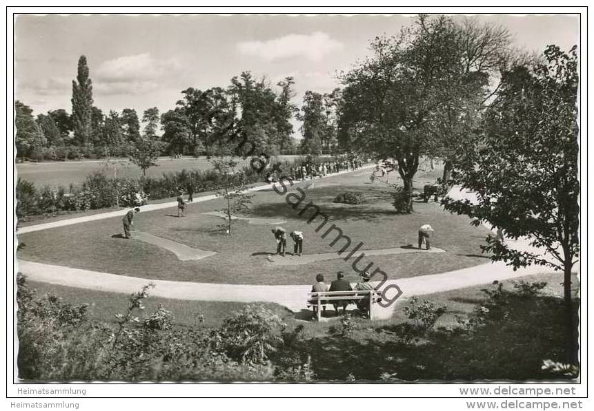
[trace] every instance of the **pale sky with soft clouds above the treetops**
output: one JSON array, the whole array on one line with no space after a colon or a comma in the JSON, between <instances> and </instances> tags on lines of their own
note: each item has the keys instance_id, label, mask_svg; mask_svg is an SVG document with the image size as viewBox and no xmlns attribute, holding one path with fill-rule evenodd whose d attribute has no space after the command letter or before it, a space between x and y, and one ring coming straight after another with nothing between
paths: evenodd
<instances>
[{"instance_id":1,"label":"pale sky with soft clouds above the treetops","mask_svg":"<svg viewBox=\"0 0 594 411\"><path fill-rule=\"evenodd\" d=\"M479 15L513 34L518 48L568 50L580 39L578 15ZM95 105L107 113L175 107L181 90L226 87L250 70L275 84L295 77L306 90L338 87L337 70L368 54L370 39L397 34L413 17L393 15L33 15L14 21L15 98L34 114L71 110L77 61L87 57Z\"/></svg>"}]
</instances>

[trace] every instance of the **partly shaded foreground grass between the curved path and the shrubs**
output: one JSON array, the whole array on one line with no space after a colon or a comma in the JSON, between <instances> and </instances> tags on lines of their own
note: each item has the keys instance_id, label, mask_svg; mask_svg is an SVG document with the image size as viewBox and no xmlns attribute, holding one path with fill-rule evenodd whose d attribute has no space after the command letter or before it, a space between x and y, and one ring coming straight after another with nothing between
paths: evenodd
<instances>
[{"instance_id":1,"label":"partly shaded foreground grass between the curved path and the shrubs","mask_svg":"<svg viewBox=\"0 0 594 411\"><path fill-rule=\"evenodd\" d=\"M520 280L520 279L517 279ZM517 281L516 280L516 281ZM295 356L312 359L313 370L319 379L378 379L382 372L405 380L415 379L534 379L547 378L539 366L543 359L559 361L562 341L563 309L560 304L562 288L558 274L527 276L527 282L548 282L544 294L549 297L527 299L520 305L511 306L511 316L500 326L482 328L474 335L457 334L444 330L456 324L455 315L468 315L481 304L484 293L476 286L455 291L424 296L436 305L446 305L448 314L436 324L436 330L419 341L404 343L399 324L406 317L399 310L389 320L370 322L353 318L353 330L348 335L340 334L338 319L329 322L301 322L285 308L268 304L269 308L283 317L288 330L304 325L299 339L280 350L274 361L283 361ZM511 282L504 282L511 289ZM38 295L57 293L67 302L90 303L90 318L112 322L113 315L126 307L126 296L99 291L83 291L77 288L53 286L30 282ZM574 288L577 291L578 283ZM538 300L538 301L537 301ZM244 304L226 302L186 302L173 299L149 297L146 313L163 304L175 316L180 326L196 324L197 313L204 314L204 326L217 327L226 315L241 309Z\"/></svg>"}]
</instances>

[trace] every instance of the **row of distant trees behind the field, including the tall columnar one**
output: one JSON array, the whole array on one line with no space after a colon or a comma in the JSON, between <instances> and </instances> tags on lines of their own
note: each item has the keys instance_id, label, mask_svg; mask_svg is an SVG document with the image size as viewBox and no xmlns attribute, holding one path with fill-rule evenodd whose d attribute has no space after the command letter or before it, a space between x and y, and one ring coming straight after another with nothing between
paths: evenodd
<instances>
[{"instance_id":1,"label":"row of distant trees behind the field, including the tall columnar one","mask_svg":"<svg viewBox=\"0 0 594 411\"><path fill-rule=\"evenodd\" d=\"M306 92L303 114L293 103L295 81L286 77L270 85L263 77L243 72L228 87L181 92L175 108L159 115L152 107L139 116L135 109L103 114L93 105L92 81L85 56L72 81L72 113L57 109L35 118L17 101L18 156L66 159L80 156L131 156L141 168L155 154L224 155L258 151L274 156L337 150L335 94ZM291 120L303 122L304 143L297 147ZM141 129L143 125L143 129ZM162 132L160 132L162 130Z\"/></svg>"}]
</instances>

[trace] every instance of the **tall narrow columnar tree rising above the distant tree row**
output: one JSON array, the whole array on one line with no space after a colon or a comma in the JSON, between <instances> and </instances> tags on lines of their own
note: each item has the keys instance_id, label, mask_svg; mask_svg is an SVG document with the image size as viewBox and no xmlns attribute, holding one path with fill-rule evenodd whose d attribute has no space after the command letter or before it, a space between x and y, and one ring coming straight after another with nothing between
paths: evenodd
<instances>
[{"instance_id":1,"label":"tall narrow columnar tree rising above the distant tree row","mask_svg":"<svg viewBox=\"0 0 594 411\"><path fill-rule=\"evenodd\" d=\"M72 80L72 123L79 145L92 142L92 83L87 58L80 56L77 80Z\"/></svg>"}]
</instances>

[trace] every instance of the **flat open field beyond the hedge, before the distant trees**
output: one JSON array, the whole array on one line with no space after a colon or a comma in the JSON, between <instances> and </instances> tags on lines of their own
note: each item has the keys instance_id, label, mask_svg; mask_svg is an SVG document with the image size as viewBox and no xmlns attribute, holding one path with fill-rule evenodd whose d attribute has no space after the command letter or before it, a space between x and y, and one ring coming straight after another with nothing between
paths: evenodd
<instances>
[{"instance_id":1,"label":"flat open field beyond the hedge, before the distant trees","mask_svg":"<svg viewBox=\"0 0 594 411\"><path fill-rule=\"evenodd\" d=\"M279 156L279 160L290 160L300 156ZM245 165L249 159L238 158ZM104 160L83 160L83 161L56 161L56 162L26 162L17 164L17 176L33 182L35 185L63 185L68 187L70 183L82 182L86 176L93 171L106 171L113 176L114 167L117 165L117 176L121 178L134 178L141 176L141 170L126 158L113 160L107 163ZM210 169L212 165L206 157L200 158L159 158L159 165L150 167L146 172L147 176L158 177L170 171L181 171L181 169Z\"/></svg>"}]
</instances>

